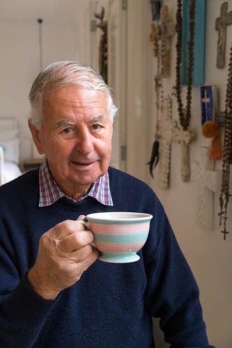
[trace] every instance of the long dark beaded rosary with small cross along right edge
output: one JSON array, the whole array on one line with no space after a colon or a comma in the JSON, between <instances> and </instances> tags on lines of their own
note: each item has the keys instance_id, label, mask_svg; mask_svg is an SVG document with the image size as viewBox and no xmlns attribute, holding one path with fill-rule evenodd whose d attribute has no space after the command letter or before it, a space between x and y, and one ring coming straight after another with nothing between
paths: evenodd
<instances>
[{"instance_id":1,"label":"long dark beaded rosary with small cross along right edge","mask_svg":"<svg viewBox=\"0 0 232 348\"><path fill-rule=\"evenodd\" d=\"M223 146L223 159L222 159L222 189L221 195L219 197L219 203L221 212L220 216L220 226L222 225L222 219L224 219L224 240L226 239L226 220L227 217L227 207L229 203L229 198L231 196L230 188L230 164L232 156L232 47L230 53L230 63L229 63L229 74L228 83L226 88L226 110L225 110L225 131L224 131L224 146ZM222 211L224 209L224 212Z\"/></svg>"}]
</instances>

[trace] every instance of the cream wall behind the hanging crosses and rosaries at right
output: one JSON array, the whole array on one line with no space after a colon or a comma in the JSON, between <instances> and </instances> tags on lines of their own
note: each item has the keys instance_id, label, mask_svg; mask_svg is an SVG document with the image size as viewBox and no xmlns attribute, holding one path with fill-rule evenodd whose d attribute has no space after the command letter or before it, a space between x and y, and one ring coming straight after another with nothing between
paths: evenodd
<instances>
[{"instance_id":1,"label":"cream wall behind the hanging crosses and rosaries at right","mask_svg":"<svg viewBox=\"0 0 232 348\"><path fill-rule=\"evenodd\" d=\"M176 1L164 0L163 5L168 5L171 13L171 19L176 23ZM226 84L229 64L229 53L231 49L232 26L227 29L226 40L226 67L224 69L216 68L217 57L217 32L215 31L215 19L219 17L222 1L210 0L207 2L206 17L206 79L205 85L217 86L220 97L220 110L224 110ZM150 32L150 1L146 0L147 13L147 35ZM232 10L232 3L229 2L229 11ZM144 37L148 42L148 36ZM148 63L148 104L150 109L147 114L147 134L148 143L151 151L155 133L155 92L154 81L156 61L153 58L152 45L150 42ZM172 39L171 56L171 77L164 82L164 92L171 94L171 87L175 85L175 64L176 64L176 34ZM183 90L183 95L185 88ZM206 140L201 135L201 104L199 87L195 86L192 90L192 120L191 127L196 131L197 139L190 146L190 166L194 160L199 159L199 147L206 145ZM173 100L172 118L178 120L176 98ZM183 104L186 105L183 97ZM150 155L150 153L148 154ZM148 156L149 157L149 156ZM215 164L215 168L222 168L222 161ZM231 168L232 169L232 168ZM147 168L148 171L148 168ZM153 180L147 177L147 182L157 193L164 208L169 216L171 225L176 234L180 247L183 250L194 276L199 284L201 303L203 306L203 317L206 321L208 338L211 345L217 348L231 348L232 342L232 204L229 203L227 228L230 232L226 236L221 233L219 227L219 192L214 195L214 229L204 232L196 226L196 202L197 202L197 184L190 182L183 183L180 178L180 145L173 143L171 145L171 177L170 188L162 191L157 187L157 174L159 168L155 168ZM231 175L232 187L232 175ZM232 188L231 188L232 191ZM161 335L162 336L162 335ZM158 347L164 347L160 338ZM166 345L165 345L166 347Z\"/></svg>"}]
</instances>

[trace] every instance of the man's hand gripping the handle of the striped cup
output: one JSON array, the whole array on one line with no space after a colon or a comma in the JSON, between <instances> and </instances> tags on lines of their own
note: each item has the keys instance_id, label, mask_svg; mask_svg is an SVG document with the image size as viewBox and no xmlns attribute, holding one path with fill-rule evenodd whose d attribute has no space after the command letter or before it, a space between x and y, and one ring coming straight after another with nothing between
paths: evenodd
<instances>
[{"instance_id":1,"label":"man's hand gripping the handle of the striped cup","mask_svg":"<svg viewBox=\"0 0 232 348\"><path fill-rule=\"evenodd\" d=\"M33 290L44 299L55 299L61 290L75 284L99 257L91 242L93 233L72 220L45 232L40 238L36 263L28 274Z\"/></svg>"}]
</instances>

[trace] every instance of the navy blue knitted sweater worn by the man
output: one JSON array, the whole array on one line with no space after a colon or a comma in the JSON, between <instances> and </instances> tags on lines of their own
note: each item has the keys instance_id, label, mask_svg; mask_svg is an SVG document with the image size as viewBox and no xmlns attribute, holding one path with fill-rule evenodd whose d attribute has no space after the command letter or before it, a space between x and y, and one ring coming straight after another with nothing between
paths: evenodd
<instances>
[{"instance_id":1,"label":"navy blue knitted sweater worn by the man","mask_svg":"<svg viewBox=\"0 0 232 348\"><path fill-rule=\"evenodd\" d=\"M150 348L152 317L171 347L209 347L199 290L155 193L109 168L114 207L87 197L38 207L38 170L0 187L0 347ZM93 212L153 215L140 260L97 260L55 300L33 291L26 273L40 236L66 219Z\"/></svg>"}]
</instances>

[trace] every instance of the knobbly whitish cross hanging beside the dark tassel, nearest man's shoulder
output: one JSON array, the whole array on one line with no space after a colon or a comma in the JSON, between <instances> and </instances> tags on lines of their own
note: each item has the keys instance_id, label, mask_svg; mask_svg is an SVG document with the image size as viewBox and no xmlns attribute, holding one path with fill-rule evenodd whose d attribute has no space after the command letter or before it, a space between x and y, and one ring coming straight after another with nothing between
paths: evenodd
<instances>
[{"instance_id":1,"label":"knobbly whitish cross hanging beside the dark tassel, nearest man's shoulder","mask_svg":"<svg viewBox=\"0 0 232 348\"><path fill-rule=\"evenodd\" d=\"M171 140L176 128L176 121L171 120L171 98L164 98L161 102L160 120L157 120L157 140L159 140L159 175L158 186L162 190L169 187L169 171L171 159Z\"/></svg>"}]
</instances>

